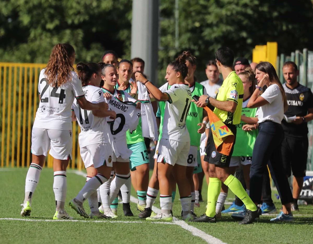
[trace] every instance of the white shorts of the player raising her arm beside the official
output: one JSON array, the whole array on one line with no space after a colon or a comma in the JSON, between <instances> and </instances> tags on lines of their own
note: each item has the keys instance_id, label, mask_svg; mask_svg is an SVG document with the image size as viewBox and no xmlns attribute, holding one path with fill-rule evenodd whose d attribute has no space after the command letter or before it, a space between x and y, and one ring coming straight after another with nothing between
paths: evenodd
<instances>
[{"instance_id":1,"label":"white shorts of the player raising her arm beside the official","mask_svg":"<svg viewBox=\"0 0 313 244\"><path fill-rule=\"evenodd\" d=\"M169 139L161 139L158 147L156 162L166 162L170 165L179 164L187 166L187 157L190 150L190 142L177 142Z\"/></svg>"}]
</instances>

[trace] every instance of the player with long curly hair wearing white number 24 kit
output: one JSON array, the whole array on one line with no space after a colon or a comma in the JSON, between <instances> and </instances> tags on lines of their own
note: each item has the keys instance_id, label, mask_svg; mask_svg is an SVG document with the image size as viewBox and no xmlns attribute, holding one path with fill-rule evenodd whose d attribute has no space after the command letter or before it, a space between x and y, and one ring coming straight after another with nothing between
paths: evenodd
<instances>
[{"instance_id":1,"label":"player with long curly hair wearing white number 24 kit","mask_svg":"<svg viewBox=\"0 0 313 244\"><path fill-rule=\"evenodd\" d=\"M40 102L32 130L32 163L26 175L22 216L30 215L32 196L50 149L49 153L54 157L53 191L56 202L53 219L72 219L64 211L66 167L72 154L71 106L76 97L80 107L85 110L108 109L105 102L95 104L86 100L81 82L72 71L74 62L74 48L67 43L59 43L54 46L47 67L40 72Z\"/></svg>"}]
</instances>

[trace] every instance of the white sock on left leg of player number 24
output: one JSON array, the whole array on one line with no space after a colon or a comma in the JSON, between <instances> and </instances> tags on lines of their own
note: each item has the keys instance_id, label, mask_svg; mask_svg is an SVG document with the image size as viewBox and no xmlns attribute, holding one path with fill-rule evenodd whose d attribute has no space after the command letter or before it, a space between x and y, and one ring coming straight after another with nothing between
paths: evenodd
<instances>
[{"instance_id":1,"label":"white sock on left leg of player number 24","mask_svg":"<svg viewBox=\"0 0 313 244\"><path fill-rule=\"evenodd\" d=\"M37 184L39 182L40 172L42 167L36 163L31 163L26 175L25 180L25 199L24 203L29 201L32 202L33 193L36 190Z\"/></svg>"}]
</instances>

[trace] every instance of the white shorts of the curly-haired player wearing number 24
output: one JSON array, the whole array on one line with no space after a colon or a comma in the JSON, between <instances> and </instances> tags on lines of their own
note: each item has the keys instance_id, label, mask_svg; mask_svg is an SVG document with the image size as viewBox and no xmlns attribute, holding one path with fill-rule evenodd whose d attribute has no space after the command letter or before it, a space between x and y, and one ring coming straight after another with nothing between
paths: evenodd
<instances>
[{"instance_id":1,"label":"white shorts of the curly-haired player wearing number 24","mask_svg":"<svg viewBox=\"0 0 313 244\"><path fill-rule=\"evenodd\" d=\"M33 127L32 129L32 146L33 155L49 154L60 160L72 158L72 131L71 130L54 130Z\"/></svg>"}]
</instances>

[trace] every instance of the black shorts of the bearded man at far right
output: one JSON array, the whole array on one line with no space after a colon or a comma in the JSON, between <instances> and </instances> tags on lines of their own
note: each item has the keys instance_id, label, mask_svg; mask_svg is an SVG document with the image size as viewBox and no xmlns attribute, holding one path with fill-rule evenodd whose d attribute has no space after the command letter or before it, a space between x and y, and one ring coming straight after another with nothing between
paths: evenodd
<instances>
[{"instance_id":1,"label":"black shorts of the bearded man at far right","mask_svg":"<svg viewBox=\"0 0 313 244\"><path fill-rule=\"evenodd\" d=\"M291 175L291 170L295 177L305 177L308 148L308 137L284 138L281 143L281 154L285 174L288 177Z\"/></svg>"}]
</instances>

